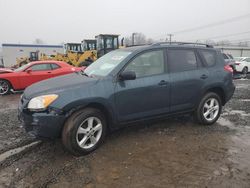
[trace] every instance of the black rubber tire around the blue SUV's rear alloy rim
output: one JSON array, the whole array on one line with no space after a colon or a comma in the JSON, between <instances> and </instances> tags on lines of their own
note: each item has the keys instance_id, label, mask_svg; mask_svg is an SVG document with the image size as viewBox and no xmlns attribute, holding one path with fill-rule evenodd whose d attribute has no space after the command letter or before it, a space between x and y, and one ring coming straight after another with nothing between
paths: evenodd
<instances>
[{"instance_id":1,"label":"black rubber tire around the blue SUV's rear alloy rim","mask_svg":"<svg viewBox=\"0 0 250 188\"><path fill-rule=\"evenodd\" d=\"M208 120L208 118L206 118L205 115L204 115L204 113L205 113L205 111L204 111L205 103L209 102L209 99L215 99L218 102L218 108L219 108L218 109L218 114L215 115L214 118L211 118L211 120ZM206 95L204 95L204 97L201 99L197 109L195 110L194 118L200 124L212 125L220 117L221 110L222 110L222 104L221 104L220 96L218 94L216 94L216 93L209 92ZM213 110L211 109L211 111L213 111Z\"/></svg>"}]
</instances>

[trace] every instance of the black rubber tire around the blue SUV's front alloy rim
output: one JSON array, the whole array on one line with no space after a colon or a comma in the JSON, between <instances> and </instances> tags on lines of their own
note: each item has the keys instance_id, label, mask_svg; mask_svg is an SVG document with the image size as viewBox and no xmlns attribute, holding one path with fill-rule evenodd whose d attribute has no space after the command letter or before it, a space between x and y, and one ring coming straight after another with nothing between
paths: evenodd
<instances>
[{"instance_id":1,"label":"black rubber tire around the blue SUV's front alloy rim","mask_svg":"<svg viewBox=\"0 0 250 188\"><path fill-rule=\"evenodd\" d=\"M78 144L79 135L77 136L77 132L81 124L88 118L92 117L96 117L97 119L99 119L102 124L101 136L99 137L99 140L96 142L95 145L85 149L80 147L80 145ZM88 124L88 122L86 123ZM62 143L64 147L75 156L87 155L92 151L94 151L103 143L106 136L106 130L107 130L106 118L102 114L102 112L94 108L85 108L73 113L66 121L62 131ZM86 135L84 134L84 136ZM91 139L89 139L88 141L91 142Z\"/></svg>"}]
</instances>

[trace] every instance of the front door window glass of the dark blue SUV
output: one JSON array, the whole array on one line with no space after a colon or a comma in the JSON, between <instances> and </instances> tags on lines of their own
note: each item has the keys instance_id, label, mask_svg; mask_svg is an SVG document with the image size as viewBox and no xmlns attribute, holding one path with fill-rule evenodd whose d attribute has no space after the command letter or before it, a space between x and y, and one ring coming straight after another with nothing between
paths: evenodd
<instances>
[{"instance_id":1,"label":"front door window glass of the dark blue SUV","mask_svg":"<svg viewBox=\"0 0 250 188\"><path fill-rule=\"evenodd\" d=\"M164 52L155 50L140 54L133 59L124 71L134 71L136 77L144 77L164 72Z\"/></svg>"}]
</instances>

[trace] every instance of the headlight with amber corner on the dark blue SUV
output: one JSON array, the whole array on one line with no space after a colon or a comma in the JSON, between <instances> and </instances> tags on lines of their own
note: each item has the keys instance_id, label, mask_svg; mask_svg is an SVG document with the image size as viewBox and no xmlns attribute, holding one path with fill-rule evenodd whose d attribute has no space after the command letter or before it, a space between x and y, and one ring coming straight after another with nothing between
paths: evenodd
<instances>
[{"instance_id":1,"label":"headlight with amber corner on the dark blue SUV","mask_svg":"<svg viewBox=\"0 0 250 188\"><path fill-rule=\"evenodd\" d=\"M54 102L58 98L58 95L42 95L39 97L35 97L30 100L28 104L29 110L44 110L46 109L52 102Z\"/></svg>"}]
</instances>

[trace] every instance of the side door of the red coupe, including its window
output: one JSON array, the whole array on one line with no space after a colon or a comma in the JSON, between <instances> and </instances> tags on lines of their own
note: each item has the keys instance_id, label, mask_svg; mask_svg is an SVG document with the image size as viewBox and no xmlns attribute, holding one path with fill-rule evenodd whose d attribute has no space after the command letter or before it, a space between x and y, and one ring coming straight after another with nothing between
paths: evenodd
<instances>
[{"instance_id":1,"label":"side door of the red coupe, including its window","mask_svg":"<svg viewBox=\"0 0 250 188\"><path fill-rule=\"evenodd\" d=\"M20 84L22 88L52 77L50 63L35 64L27 68L20 74Z\"/></svg>"}]
</instances>

